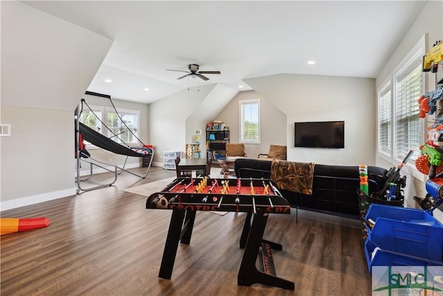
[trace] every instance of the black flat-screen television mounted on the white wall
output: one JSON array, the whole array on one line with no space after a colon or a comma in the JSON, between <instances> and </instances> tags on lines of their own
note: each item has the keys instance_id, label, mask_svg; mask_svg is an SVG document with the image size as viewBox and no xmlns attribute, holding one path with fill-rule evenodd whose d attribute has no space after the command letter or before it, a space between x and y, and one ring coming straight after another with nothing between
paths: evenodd
<instances>
[{"instance_id":1,"label":"black flat-screen television mounted on the white wall","mask_svg":"<svg viewBox=\"0 0 443 296\"><path fill-rule=\"evenodd\" d=\"M345 148L345 121L294 123L294 146L305 148Z\"/></svg>"}]
</instances>

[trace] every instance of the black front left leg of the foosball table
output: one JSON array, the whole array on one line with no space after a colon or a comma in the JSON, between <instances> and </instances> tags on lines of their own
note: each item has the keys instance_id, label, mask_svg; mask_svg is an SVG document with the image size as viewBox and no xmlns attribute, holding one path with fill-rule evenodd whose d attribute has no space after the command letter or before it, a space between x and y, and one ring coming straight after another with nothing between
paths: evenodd
<instances>
[{"instance_id":1,"label":"black front left leg of the foosball table","mask_svg":"<svg viewBox=\"0 0 443 296\"><path fill-rule=\"evenodd\" d=\"M185 211L172 209L171 221L166 237L163 258L161 259L159 277L162 279L171 279L172 269L174 268L175 256L179 248L181 227L185 218Z\"/></svg>"}]
</instances>

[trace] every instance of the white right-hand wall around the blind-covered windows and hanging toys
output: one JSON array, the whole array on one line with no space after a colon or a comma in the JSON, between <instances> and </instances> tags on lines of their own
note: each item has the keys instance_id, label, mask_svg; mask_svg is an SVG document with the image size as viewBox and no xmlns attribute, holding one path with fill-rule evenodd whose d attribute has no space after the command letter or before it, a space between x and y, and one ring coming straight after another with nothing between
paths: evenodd
<instances>
[{"instance_id":1,"label":"white right-hand wall around the blind-covered windows and hanging toys","mask_svg":"<svg viewBox=\"0 0 443 296\"><path fill-rule=\"evenodd\" d=\"M413 46L419 39L426 34L427 50L431 49L435 41L443 40L443 2L442 1L428 1L422 11L419 13L417 19L410 26L406 35L397 46L397 49L392 53L389 60L386 61L385 66L379 72L376 79L376 86L379 87L386 79L389 78L392 71L399 65L408 52L413 49ZM432 73L426 73L425 91L428 92L435 88L435 77ZM418 98L417 98L418 99ZM418 108L418 105L417 105ZM426 119L427 120L427 119ZM431 120L431 119L430 119ZM418 148L418 147L417 147ZM389 164L381 157L376 156L376 164L378 166L389 167ZM424 198L426 189L424 186L424 179L413 177L413 171L416 171L415 165L408 163L406 168L402 169L402 175L406 175L405 200L406 207L419 208L419 205L413 200L413 196ZM414 173L415 174L415 173ZM420 175L420 174L418 174ZM443 221L443 214L441 211L434 211L435 216Z\"/></svg>"}]
</instances>

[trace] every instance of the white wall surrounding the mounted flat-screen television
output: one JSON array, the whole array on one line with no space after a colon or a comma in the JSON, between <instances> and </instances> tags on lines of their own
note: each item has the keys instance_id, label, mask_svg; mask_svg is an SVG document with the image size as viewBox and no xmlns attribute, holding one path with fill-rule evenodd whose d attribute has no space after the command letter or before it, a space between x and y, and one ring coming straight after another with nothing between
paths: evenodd
<instances>
[{"instance_id":1,"label":"white wall surrounding the mounted flat-screen television","mask_svg":"<svg viewBox=\"0 0 443 296\"><path fill-rule=\"evenodd\" d=\"M374 79L278 74L245 82L286 114L288 159L350 166L374 164ZM294 122L343 120L344 149L294 147Z\"/></svg>"}]
</instances>

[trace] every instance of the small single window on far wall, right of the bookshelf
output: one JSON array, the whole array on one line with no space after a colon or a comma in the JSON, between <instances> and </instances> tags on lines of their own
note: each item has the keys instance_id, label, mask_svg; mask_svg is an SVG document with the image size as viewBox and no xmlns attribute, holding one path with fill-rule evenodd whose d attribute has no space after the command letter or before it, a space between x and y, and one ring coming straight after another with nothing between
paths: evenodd
<instances>
[{"instance_id":1,"label":"small single window on far wall, right of the bookshelf","mask_svg":"<svg viewBox=\"0 0 443 296\"><path fill-rule=\"evenodd\" d=\"M260 143L260 99L239 101L240 142Z\"/></svg>"}]
</instances>

